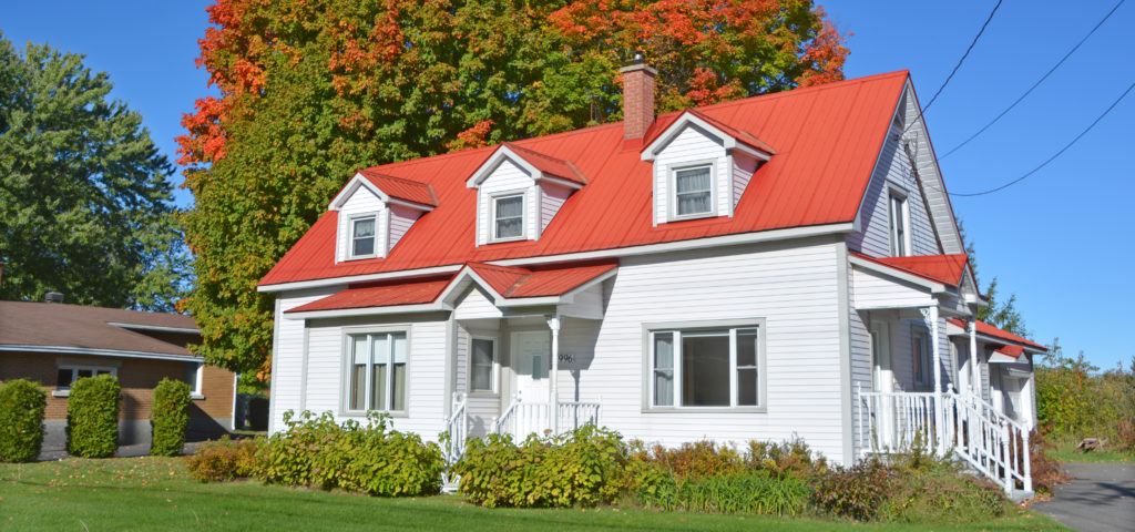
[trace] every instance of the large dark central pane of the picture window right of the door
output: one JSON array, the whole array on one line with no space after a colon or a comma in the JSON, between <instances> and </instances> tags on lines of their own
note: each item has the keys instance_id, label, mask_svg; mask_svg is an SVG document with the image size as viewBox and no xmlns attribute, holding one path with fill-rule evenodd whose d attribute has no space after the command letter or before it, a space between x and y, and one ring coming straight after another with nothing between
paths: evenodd
<instances>
[{"instance_id":1,"label":"large dark central pane of the picture window right of the door","mask_svg":"<svg viewBox=\"0 0 1135 532\"><path fill-rule=\"evenodd\" d=\"M729 331L683 332L682 406L729 406Z\"/></svg>"}]
</instances>

